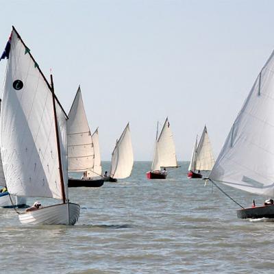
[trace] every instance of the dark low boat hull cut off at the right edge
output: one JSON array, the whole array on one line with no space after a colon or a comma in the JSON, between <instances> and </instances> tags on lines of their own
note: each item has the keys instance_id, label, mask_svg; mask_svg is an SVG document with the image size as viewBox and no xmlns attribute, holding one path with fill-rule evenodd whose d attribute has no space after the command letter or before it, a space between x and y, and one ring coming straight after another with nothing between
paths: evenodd
<instances>
[{"instance_id":1,"label":"dark low boat hull cut off at the right edge","mask_svg":"<svg viewBox=\"0 0 274 274\"><path fill-rule=\"evenodd\" d=\"M256 206L255 208L244 208L242 210L236 210L236 212L239 219L274 219L274 205Z\"/></svg>"}]
</instances>

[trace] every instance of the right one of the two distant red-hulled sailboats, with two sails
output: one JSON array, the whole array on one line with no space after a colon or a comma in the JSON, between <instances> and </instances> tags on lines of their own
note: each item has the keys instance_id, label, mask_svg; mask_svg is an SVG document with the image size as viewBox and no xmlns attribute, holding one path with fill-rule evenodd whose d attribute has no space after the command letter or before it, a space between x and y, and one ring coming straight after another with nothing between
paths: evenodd
<instances>
[{"instance_id":1,"label":"right one of the two distant red-hulled sailboats, with two sails","mask_svg":"<svg viewBox=\"0 0 274 274\"><path fill-rule=\"evenodd\" d=\"M192 150L191 161L188 167L188 178L201 178L200 171L211 171L214 166L214 156L212 147L210 144L210 138L208 137L208 129L203 128L203 133L197 145L197 138ZM198 171L198 172L195 172Z\"/></svg>"}]
</instances>

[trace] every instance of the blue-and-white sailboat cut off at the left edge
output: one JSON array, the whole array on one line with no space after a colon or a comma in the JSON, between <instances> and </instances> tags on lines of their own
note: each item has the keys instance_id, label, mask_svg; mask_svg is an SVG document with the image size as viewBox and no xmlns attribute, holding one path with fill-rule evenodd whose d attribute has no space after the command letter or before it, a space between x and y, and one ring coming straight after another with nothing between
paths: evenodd
<instances>
[{"instance_id":1,"label":"blue-and-white sailboat cut off at the left edge","mask_svg":"<svg viewBox=\"0 0 274 274\"><path fill-rule=\"evenodd\" d=\"M1 110L1 99L0 99L0 110ZM27 199L25 197L17 197L10 195L8 191L3 190L6 188L5 176L3 172L3 164L0 152L0 186L3 186L0 192L0 207L1 208L23 208L26 206Z\"/></svg>"}]
</instances>

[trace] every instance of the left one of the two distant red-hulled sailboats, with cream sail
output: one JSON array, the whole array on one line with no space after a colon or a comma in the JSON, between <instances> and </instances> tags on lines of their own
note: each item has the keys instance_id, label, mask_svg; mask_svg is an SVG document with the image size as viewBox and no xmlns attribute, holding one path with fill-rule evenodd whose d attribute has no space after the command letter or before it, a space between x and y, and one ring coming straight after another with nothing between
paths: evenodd
<instances>
[{"instance_id":1,"label":"left one of the two distant red-hulled sailboats, with cream sail","mask_svg":"<svg viewBox=\"0 0 274 274\"><path fill-rule=\"evenodd\" d=\"M166 168L179 167L177 164L175 144L169 119L166 117L159 138L158 125L159 123L157 123L153 161L151 164L151 170L147 171L147 179L166 179ZM161 167L164 168L163 171L161 171Z\"/></svg>"}]
</instances>

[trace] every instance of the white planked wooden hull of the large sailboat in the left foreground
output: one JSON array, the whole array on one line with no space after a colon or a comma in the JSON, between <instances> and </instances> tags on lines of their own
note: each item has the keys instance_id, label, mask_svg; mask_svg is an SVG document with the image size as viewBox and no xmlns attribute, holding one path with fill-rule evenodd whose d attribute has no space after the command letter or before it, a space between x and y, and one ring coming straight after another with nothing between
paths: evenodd
<instances>
[{"instance_id":1,"label":"white planked wooden hull of the large sailboat in the left foreground","mask_svg":"<svg viewBox=\"0 0 274 274\"><path fill-rule=\"evenodd\" d=\"M47 206L30 212L19 214L19 221L31 225L74 225L80 214L80 206L77 203L61 203Z\"/></svg>"}]
</instances>

